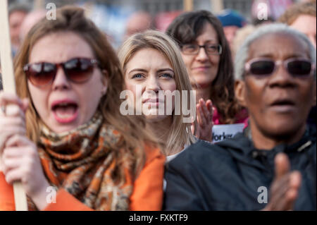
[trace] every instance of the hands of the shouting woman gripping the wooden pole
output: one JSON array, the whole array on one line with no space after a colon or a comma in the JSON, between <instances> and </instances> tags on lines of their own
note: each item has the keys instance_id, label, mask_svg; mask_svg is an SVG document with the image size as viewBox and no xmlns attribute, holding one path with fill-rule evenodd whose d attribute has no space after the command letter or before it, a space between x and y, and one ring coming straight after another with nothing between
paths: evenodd
<instances>
[{"instance_id":1,"label":"hands of the shouting woman gripping the wooden pole","mask_svg":"<svg viewBox=\"0 0 317 225\"><path fill-rule=\"evenodd\" d=\"M8 104L18 107L7 111ZM0 169L7 183L21 181L25 193L42 209L46 206L49 183L42 170L37 146L25 136L27 106L27 99L0 92Z\"/></svg>"}]
</instances>

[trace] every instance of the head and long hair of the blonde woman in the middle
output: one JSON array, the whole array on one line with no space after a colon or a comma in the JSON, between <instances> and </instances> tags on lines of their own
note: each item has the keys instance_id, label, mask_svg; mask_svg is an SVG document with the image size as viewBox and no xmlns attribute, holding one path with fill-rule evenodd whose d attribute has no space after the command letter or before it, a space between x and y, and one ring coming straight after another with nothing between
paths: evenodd
<instances>
[{"instance_id":1,"label":"head and long hair of the blonde woman in the middle","mask_svg":"<svg viewBox=\"0 0 317 225\"><path fill-rule=\"evenodd\" d=\"M142 111L147 126L161 142L167 160L173 159L195 142L190 132L190 115L195 107L190 102L192 87L178 46L168 35L149 30L129 37L120 47L118 57L125 74L125 88L133 92L134 107L149 108L149 114L144 113L144 109ZM142 90L139 93L138 85ZM160 95L162 91L164 93ZM178 91L180 99L168 97L168 91ZM187 94L187 102L182 101L185 99L183 92ZM184 114L182 104L187 104L186 109L193 107L190 115ZM179 113L175 113L177 109L180 109ZM160 110L163 114L159 113Z\"/></svg>"}]
</instances>

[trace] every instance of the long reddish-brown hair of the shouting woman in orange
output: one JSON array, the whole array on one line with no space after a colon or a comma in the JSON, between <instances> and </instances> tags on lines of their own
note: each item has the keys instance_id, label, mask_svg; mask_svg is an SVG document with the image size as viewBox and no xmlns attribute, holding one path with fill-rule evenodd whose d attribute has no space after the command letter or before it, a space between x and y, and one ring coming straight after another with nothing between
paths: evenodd
<instances>
[{"instance_id":1,"label":"long reddish-brown hair of the shouting woman in orange","mask_svg":"<svg viewBox=\"0 0 317 225\"><path fill-rule=\"evenodd\" d=\"M26 112L27 136L37 142L40 135L41 119L32 103L30 92L27 87L27 77L23 71L23 66L28 63L30 52L35 43L46 35L56 32L73 32L79 35L89 44L96 59L100 62L101 68L107 71L102 73L107 75L108 89L106 95L100 99L99 110L104 116L104 122L112 125L123 135L123 145L120 150L113 152L116 158L116 169L113 178L116 181L125 179L123 171L123 160L130 157L132 162L133 175L137 176L142 169L145 160L144 145L154 146L156 140L149 130L145 129L145 121L140 117L123 116L120 114L120 92L123 90L123 73L116 52L109 44L104 35L91 20L85 18L82 8L66 6L58 9L56 20L42 20L37 23L27 34L22 47L15 58L15 81L18 96L28 97L30 106ZM67 33L65 35L67 38ZM45 49L43 49L45 51ZM153 145L152 145L153 144Z\"/></svg>"}]
</instances>

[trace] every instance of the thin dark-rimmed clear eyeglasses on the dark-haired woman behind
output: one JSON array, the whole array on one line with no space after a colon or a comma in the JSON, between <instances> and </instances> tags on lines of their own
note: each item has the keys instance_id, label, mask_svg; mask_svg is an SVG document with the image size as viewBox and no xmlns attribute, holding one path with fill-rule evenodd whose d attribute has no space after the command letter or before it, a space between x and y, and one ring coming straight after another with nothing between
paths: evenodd
<instances>
[{"instance_id":1,"label":"thin dark-rimmed clear eyeglasses on the dark-haired woman behind","mask_svg":"<svg viewBox=\"0 0 317 225\"><path fill-rule=\"evenodd\" d=\"M220 55L223 51L223 48L220 44L183 44L181 49L183 54L187 55L195 55L198 54L199 49L204 48L206 51L206 54L209 55Z\"/></svg>"}]
</instances>

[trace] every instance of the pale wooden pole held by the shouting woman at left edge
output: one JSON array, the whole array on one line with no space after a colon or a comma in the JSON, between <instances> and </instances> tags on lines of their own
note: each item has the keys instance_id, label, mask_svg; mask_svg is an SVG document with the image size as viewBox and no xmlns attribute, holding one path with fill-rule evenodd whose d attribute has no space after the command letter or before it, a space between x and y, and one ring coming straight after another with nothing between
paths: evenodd
<instances>
[{"instance_id":1,"label":"pale wooden pole held by the shouting woman at left edge","mask_svg":"<svg viewBox=\"0 0 317 225\"><path fill-rule=\"evenodd\" d=\"M0 1L0 58L2 71L2 84L5 92L16 93L13 73L13 63L11 54L11 41L8 26L8 1ZM7 106L6 111L11 111L12 107ZM14 201L16 211L27 211L27 199L22 183L13 183Z\"/></svg>"}]
</instances>

